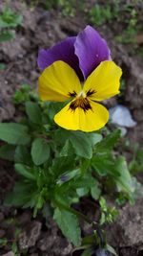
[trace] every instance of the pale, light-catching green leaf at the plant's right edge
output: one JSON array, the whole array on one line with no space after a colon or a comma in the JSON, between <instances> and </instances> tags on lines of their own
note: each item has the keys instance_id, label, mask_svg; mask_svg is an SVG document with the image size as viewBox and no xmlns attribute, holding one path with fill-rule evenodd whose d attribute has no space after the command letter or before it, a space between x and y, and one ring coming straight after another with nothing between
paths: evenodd
<instances>
[{"instance_id":1,"label":"pale, light-catching green leaf at the plant's right edge","mask_svg":"<svg viewBox=\"0 0 143 256\"><path fill-rule=\"evenodd\" d=\"M132 194L134 192L133 180L132 176L129 173L125 157L118 157L116 159L115 167L117 172L119 173L119 175L115 178L118 190L125 191L128 194Z\"/></svg>"}]
</instances>

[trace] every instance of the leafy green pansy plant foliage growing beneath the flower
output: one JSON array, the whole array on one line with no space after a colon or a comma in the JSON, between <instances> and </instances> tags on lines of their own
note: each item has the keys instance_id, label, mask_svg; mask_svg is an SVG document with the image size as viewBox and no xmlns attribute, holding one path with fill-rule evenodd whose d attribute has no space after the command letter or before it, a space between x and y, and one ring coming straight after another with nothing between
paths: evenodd
<instances>
[{"instance_id":1,"label":"leafy green pansy plant foliage growing beneath the flower","mask_svg":"<svg viewBox=\"0 0 143 256\"><path fill-rule=\"evenodd\" d=\"M62 233L75 246L84 243L78 221L82 218L92 224L96 249L110 250L102 224L114 221L117 212L107 205L103 191L109 195L114 191L116 198L120 194L133 198L134 192L126 160L113 150L120 131L106 135L106 129L85 133L57 128L52 116L62 105L40 102L27 84L15 92L13 101L25 116L18 124L0 124L0 157L14 162L19 175L6 203L31 207L33 217L39 210L44 213L48 205ZM99 220L89 220L73 206L89 196L98 202ZM90 242L88 255L92 248Z\"/></svg>"}]
</instances>

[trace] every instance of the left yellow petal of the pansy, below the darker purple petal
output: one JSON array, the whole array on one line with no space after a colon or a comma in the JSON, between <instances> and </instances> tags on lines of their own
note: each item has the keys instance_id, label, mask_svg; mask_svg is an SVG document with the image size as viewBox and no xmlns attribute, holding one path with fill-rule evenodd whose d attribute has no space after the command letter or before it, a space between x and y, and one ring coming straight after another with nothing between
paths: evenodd
<instances>
[{"instance_id":1,"label":"left yellow petal of the pansy, below the darker purple petal","mask_svg":"<svg viewBox=\"0 0 143 256\"><path fill-rule=\"evenodd\" d=\"M58 60L47 67L39 78L39 95L43 101L64 102L81 90L80 81L72 67Z\"/></svg>"}]
</instances>

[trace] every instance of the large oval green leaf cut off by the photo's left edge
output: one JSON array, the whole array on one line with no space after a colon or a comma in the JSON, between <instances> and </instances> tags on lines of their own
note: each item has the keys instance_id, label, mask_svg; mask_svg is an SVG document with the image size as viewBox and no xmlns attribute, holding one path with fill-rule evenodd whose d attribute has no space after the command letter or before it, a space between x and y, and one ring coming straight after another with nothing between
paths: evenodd
<instances>
[{"instance_id":1,"label":"large oval green leaf cut off by the photo's left edge","mask_svg":"<svg viewBox=\"0 0 143 256\"><path fill-rule=\"evenodd\" d=\"M13 145L26 145L31 137L26 126L15 123L0 124L0 139Z\"/></svg>"}]
</instances>

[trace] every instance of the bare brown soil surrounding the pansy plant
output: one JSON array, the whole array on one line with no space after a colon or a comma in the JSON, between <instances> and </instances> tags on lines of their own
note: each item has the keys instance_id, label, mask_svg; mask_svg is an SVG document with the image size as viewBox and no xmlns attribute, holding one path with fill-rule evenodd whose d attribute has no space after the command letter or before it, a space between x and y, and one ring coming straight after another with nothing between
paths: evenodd
<instances>
[{"instance_id":1,"label":"bare brown soil surrounding the pansy plant","mask_svg":"<svg viewBox=\"0 0 143 256\"><path fill-rule=\"evenodd\" d=\"M88 1L87 1L88 2ZM91 5L93 1L90 1ZM4 3L0 4L2 9ZM87 8L89 8L87 4ZM16 109L11 103L11 95L22 83L28 83L32 88L37 86L39 70L36 64L38 49L49 48L53 43L67 35L76 35L89 23L83 13L74 17L63 16L59 10L46 11L39 6L30 8L24 2L11 1L13 11L23 15L22 26L16 31L14 40L1 44L0 62L7 69L0 71L0 122L10 122L17 118ZM142 58L131 55L131 45L117 44L114 41L114 31L122 33L122 21L114 27L103 25L97 28L112 49L112 58L124 72L126 91L123 105L127 105L133 114L137 126L128 129L127 136L132 144L138 142L143 146L143 74ZM109 106L117 104L113 99ZM15 174L12 166L6 161L0 161L0 239L7 237L9 243L0 245L0 255L12 256L11 244L18 244L20 255L31 256L68 256L72 251L61 235L57 226L50 221L47 227L42 216L32 219L30 210L13 209L3 204L3 199L12 188ZM141 181L143 178L140 177ZM120 256L143 255L143 199L136 200L134 206L122 207L120 217L115 226L110 227L109 240ZM15 232L20 229L20 236L15 238ZM85 227L86 229L86 227ZM14 246L14 245L13 245ZM24 254L27 253L27 254ZM16 254L15 254L16 255Z\"/></svg>"}]
</instances>

